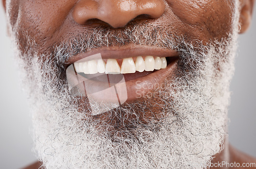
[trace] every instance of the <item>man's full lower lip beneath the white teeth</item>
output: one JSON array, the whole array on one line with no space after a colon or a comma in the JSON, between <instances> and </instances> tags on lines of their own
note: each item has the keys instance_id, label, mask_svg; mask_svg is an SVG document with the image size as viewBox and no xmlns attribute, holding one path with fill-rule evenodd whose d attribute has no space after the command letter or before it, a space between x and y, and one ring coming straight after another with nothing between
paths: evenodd
<instances>
[{"instance_id":1,"label":"man's full lower lip beneath the white teeth","mask_svg":"<svg viewBox=\"0 0 256 169\"><path fill-rule=\"evenodd\" d=\"M165 69L155 70L153 72L136 72L131 74L119 75L81 75L73 74L72 81L80 79L78 89L89 98L103 102L129 103L142 98L154 89L157 89L169 74L177 69L178 58L172 58L172 61ZM75 77L75 76L77 77ZM85 74L83 74L85 75ZM110 81L114 83L110 83ZM113 80L114 79L114 80ZM120 81L121 79L121 81ZM114 86L114 89L113 89ZM117 102L118 97L118 102Z\"/></svg>"}]
</instances>

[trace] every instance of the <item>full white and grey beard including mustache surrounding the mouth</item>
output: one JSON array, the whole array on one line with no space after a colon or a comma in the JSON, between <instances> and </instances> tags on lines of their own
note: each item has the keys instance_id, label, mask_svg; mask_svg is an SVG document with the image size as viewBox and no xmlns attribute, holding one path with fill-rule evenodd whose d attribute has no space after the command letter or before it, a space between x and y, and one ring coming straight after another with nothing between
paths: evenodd
<instances>
[{"instance_id":1,"label":"full white and grey beard including mustache surrounding the mouth","mask_svg":"<svg viewBox=\"0 0 256 169\"><path fill-rule=\"evenodd\" d=\"M69 55L84 49L123 45L126 40L120 38L120 33L98 28L93 37L76 37L49 55L35 51L19 54L33 111L34 151L38 159L46 168L209 167L213 156L223 149L226 136L237 25L238 12L233 16L230 35L206 45L184 37L170 38L171 33L161 29L162 34L156 34L154 27L153 34L148 25L135 25L131 33L139 35L143 29L147 36L123 33L135 44L176 49L180 58L176 72L159 88L109 111L119 126L125 126L119 128L91 118L90 110L81 106L81 98L70 93L61 65ZM105 42L100 37L95 42L89 40L102 34L110 35L112 41ZM150 35L166 36L155 40ZM90 43L86 46L85 42ZM138 117L156 112L157 118L143 122Z\"/></svg>"}]
</instances>

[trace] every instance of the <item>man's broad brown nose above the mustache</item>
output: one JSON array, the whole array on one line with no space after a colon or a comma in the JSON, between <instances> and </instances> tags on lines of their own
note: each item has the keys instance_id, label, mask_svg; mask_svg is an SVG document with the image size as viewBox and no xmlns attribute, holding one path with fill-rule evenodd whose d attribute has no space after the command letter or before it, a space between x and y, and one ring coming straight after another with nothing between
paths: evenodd
<instances>
[{"instance_id":1,"label":"man's broad brown nose above the mustache","mask_svg":"<svg viewBox=\"0 0 256 169\"><path fill-rule=\"evenodd\" d=\"M136 17L159 18L164 9L163 0L80 0L76 3L72 15L81 25L98 19L118 28Z\"/></svg>"}]
</instances>

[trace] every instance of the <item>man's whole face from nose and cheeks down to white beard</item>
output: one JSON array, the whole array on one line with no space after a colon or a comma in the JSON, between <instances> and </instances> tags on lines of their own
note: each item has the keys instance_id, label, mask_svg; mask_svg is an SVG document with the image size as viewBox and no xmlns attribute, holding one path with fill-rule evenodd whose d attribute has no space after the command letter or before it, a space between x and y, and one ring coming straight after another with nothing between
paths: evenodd
<instances>
[{"instance_id":1,"label":"man's whole face from nose and cheeks down to white beard","mask_svg":"<svg viewBox=\"0 0 256 169\"><path fill-rule=\"evenodd\" d=\"M203 168L220 151L238 1L13 0L6 6L35 111L35 150L47 167ZM106 62L102 74L113 61L121 72L108 77L125 79L127 99L115 108L69 90L67 68L97 53ZM137 70L139 57L148 70ZM160 70L147 68L146 60L156 66L158 57ZM122 72L126 58L137 71ZM100 86L94 80L92 90ZM93 113L102 106L108 110Z\"/></svg>"}]
</instances>

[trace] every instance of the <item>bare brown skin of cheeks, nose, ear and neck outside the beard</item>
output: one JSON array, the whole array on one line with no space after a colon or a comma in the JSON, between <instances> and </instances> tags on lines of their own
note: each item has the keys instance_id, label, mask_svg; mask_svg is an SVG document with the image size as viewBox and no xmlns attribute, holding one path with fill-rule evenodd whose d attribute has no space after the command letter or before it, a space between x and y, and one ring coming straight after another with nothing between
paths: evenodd
<instances>
[{"instance_id":1,"label":"bare brown skin of cheeks, nose, ear and neck outside the beard","mask_svg":"<svg viewBox=\"0 0 256 169\"><path fill-rule=\"evenodd\" d=\"M10 15L11 29L18 33L17 38L22 42L19 49L23 53L26 52L24 30L28 31L29 36L35 40L33 50L39 53L50 53L52 46L67 41L73 35L86 32L90 27L103 25L115 30L125 27L131 20L162 27L173 25L170 29L176 35L186 35L189 39L198 39L203 43L214 39L220 40L230 33L233 12L231 0L167 0L166 2L162 0L2 0L6 13ZM240 2L240 33L244 33L250 25L254 0L240 0ZM132 47L133 44L123 46L125 49ZM119 51L120 53L122 54L122 51ZM230 146L227 139L224 150L215 157L212 161L214 163L227 161L240 163L242 166L244 162L256 162L255 158ZM36 162L26 168L38 168L40 165L40 162Z\"/></svg>"}]
</instances>

